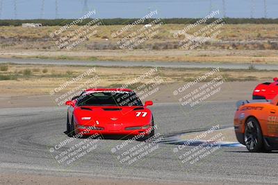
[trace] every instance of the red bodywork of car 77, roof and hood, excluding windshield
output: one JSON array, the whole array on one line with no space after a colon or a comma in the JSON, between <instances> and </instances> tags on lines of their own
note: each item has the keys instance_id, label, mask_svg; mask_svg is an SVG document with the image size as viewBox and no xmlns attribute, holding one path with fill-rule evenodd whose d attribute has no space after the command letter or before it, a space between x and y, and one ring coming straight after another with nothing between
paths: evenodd
<instances>
[{"instance_id":1,"label":"red bodywork of car 77, roof and hood, excluding windshield","mask_svg":"<svg viewBox=\"0 0 278 185\"><path fill-rule=\"evenodd\" d=\"M95 91L131 91L130 89L87 89ZM73 106L68 114L74 120L75 134L148 135L152 128L152 112L145 106ZM69 116L69 120L72 118ZM86 118L86 119L83 119ZM90 119L89 119L90 118ZM145 126L145 127L144 127ZM95 127L97 129L91 129ZM138 127L129 130L128 127ZM144 128L142 128L144 127ZM84 132L85 131L85 132Z\"/></svg>"}]
</instances>

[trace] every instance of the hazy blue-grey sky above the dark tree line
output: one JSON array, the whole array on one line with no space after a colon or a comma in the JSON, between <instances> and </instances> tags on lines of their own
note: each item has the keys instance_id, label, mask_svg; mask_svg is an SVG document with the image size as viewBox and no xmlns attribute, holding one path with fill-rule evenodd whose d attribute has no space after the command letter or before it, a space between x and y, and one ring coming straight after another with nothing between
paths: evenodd
<instances>
[{"instance_id":1,"label":"hazy blue-grey sky above the dark tree line","mask_svg":"<svg viewBox=\"0 0 278 185\"><path fill-rule=\"evenodd\" d=\"M2 6L1 6L2 1ZM56 0L0 0L0 19L55 19ZM222 0L58 0L58 18L78 18L85 10L96 10L99 18L137 18L146 15L149 10L158 10L156 17L204 17L211 10L220 10ZM225 0L227 17L264 17L263 0ZM278 0L265 0L267 17L278 18ZM15 6L15 2L16 6ZM253 13L252 13L253 12Z\"/></svg>"}]
</instances>

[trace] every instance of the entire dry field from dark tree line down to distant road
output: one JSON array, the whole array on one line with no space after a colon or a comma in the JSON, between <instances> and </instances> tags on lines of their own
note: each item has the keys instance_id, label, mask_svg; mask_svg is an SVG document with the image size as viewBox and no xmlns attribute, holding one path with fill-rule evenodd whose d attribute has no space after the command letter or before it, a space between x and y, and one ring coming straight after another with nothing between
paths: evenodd
<instances>
[{"instance_id":1,"label":"entire dry field from dark tree line down to distant road","mask_svg":"<svg viewBox=\"0 0 278 185\"><path fill-rule=\"evenodd\" d=\"M20 26L0 26L0 54L3 58L51 58L58 60L109 60L109 61L179 61L179 62L236 62L236 63L277 63L278 25L277 24L238 24L220 28L218 42L202 44L198 49L179 49L178 38L173 33L185 24L161 26L153 39L142 43L135 50L122 50L117 41L142 27L134 26L122 35L112 38L111 34L122 28L99 26L95 36L85 40L74 49L58 49L55 42L79 26L74 26L51 39L50 33L59 26L42 28L22 28ZM204 27L197 26L188 33Z\"/></svg>"}]
</instances>

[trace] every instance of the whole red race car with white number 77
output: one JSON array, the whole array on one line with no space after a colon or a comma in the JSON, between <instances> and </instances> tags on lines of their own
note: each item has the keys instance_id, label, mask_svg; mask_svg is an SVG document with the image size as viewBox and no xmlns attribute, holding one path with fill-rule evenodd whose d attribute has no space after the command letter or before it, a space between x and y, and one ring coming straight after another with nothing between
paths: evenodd
<instances>
[{"instance_id":1,"label":"whole red race car with white number 77","mask_svg":"<svg viewBox=\"0 0 278 185\"><path fill-rule=\"evenodd\" d=\"M147 108L153 103L146 101L142 105L131 89L87 89L65 104L69 136L154 136L154 118Z\"/></svg>"}]
</instances>

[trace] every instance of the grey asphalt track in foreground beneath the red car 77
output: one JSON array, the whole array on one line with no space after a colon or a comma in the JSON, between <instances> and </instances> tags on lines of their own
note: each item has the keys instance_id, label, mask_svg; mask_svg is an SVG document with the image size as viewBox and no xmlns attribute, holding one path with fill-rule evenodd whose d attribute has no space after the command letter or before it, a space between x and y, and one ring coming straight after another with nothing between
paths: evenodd
<instances>
[{"instance_id":1,"label":"grey asphalt track in foreground beneath the red car 77","mask_svg":"<svg viewBox=\"0 0 278 185\"><path fill-rule=\"evenodd\" d=\"M205 103L195 109L174 103L152 106L158 129L167 137L172 133L211 127L231 127L234 102ZM65 177L117 177L152 179L157 182L204 182L221 184L278 184L277 153L250 153L245 148L222 147L200 161L182 163L174 153L177 145L158 143L158 148L129 165L120 163L112 152L126 140L101 139L97 148L70 166L58 164L49 148L69 138L64 134L66 107L0 109L0 173L40 173ZM74 139L80 143L84 139ZM95 141L95 140L91 140ZM184 152L193 146L186 146ZM57 151L58 152L58 151ZM179 154L181 154L179 153Z\"/></svg>"}]
</instances>

